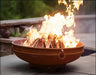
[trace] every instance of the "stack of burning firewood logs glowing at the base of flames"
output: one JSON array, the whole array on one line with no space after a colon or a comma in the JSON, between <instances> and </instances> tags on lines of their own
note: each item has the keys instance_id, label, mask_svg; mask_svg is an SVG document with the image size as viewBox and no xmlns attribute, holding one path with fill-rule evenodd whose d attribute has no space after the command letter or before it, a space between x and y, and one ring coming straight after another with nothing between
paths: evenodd
<instances>
[{"instance_id":1,"label":"stack of burning firewood logs glowing at the base of flames","mask_svg":"<svg viewBox=\"0 0 96 75\"><path fill-rule=\"evenodd\" d=\"M57 38L57 35L50 34L47 40L44 37L37 38L33 41L31 46L34 48L64 48L64 44L61 40L56 41L56 39L60 39L60 37Z\"/></svg>"}]
</instances>

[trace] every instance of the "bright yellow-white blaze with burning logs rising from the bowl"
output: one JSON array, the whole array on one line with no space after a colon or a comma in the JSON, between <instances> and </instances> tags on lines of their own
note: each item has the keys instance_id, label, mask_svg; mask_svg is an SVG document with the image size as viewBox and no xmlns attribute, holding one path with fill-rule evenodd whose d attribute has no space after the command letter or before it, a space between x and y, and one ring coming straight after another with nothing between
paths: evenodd
<instances>
[{"instance_id":1,"label":"bright yellow-white blaze with burning logs rising from the bowl","mask_svg":"<svg viewBox=\"0 0 96 75\"><path fill-rule=\"evenodd\" d=\"M60 13L56 13L54 16L45 15L42 27L39 31L33 29L32 26L27 33L27 40L24 42L24 46L31 47L45 47L45 48L72 48L76 47L79 43L79 39L74 37L74 30L71 27L75 27L74 10L79 10L79 6L83 4L83 0L69 0L73 4L68 5L66 0L58 0L58 3L64 3L66 5L68 16L64 16ZM73 8L72 8L73 5ZM69 29L63 33L63 28Z\"/></svg>"}]
</instances>

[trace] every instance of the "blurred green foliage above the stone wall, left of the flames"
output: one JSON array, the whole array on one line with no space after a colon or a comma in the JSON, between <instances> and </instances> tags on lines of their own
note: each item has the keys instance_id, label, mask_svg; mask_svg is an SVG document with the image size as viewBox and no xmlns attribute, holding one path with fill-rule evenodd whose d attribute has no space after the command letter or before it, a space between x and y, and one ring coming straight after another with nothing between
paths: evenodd
<instances>
[{"instance_id":1,"label":"blurred green foliage above the stone wall, left of the flames","mask_svg":"<svg viewBox=\"0 0 96 75\"><path fill-rule=\"evenodd\" d=\"M1 0L0 20L40 17L52 8L42 0Z\"/></svg>"}]
</instances>

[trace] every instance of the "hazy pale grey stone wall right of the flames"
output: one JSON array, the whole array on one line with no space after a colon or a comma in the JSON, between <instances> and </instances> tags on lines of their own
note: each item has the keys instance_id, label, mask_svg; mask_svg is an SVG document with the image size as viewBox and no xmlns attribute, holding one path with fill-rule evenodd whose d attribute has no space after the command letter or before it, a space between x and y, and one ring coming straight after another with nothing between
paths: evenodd
<instances>
[{"instance_id":1,"label":"hazy pale grey stone wall right of the flames","mask_svg":"<svg viewBox=\"0 0 96 75\"><path fill-rule=\"evenodd\" d=\"M76 18L76 33L95 33L95 24L96 24L96 16L95 15L86 15L86 17Z\"/></svg>"}]
</instances>

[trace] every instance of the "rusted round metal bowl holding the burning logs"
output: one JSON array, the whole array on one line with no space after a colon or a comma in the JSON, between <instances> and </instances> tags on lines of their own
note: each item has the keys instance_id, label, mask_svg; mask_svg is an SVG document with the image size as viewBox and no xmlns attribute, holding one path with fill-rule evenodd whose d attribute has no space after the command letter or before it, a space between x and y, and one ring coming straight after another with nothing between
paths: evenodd
<instances>
[{"instance_id":1,"label":"rusted round metal bowl holding the burning logs","mask_svg":"<svg viewBox=\"0 0 96 75\"><path fill-rule=\"evenodd\" d=\"M15 54L37 66L64 65L78 59L83 53L83 44L80 42L75 48L32 48L23 46L26 39L12 42Z\"/></svg>"}]
</instances>

